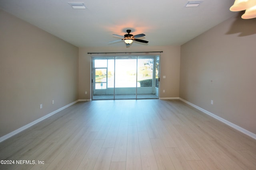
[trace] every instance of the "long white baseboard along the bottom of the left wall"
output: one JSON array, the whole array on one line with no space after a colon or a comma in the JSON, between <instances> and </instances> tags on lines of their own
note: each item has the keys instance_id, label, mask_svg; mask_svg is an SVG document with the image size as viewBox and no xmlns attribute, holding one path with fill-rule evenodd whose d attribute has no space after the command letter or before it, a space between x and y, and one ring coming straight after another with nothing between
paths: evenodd
<instances>
[{"instance_id":1,"label":"long white baseboard along the bottom of the left wall","mask_svg":"<svg viewBox=\"0 0 256 170\"><path fill-rule=\"evenodd\" d=\"M40 121L42 121L42 120L44 120L44 119L54 115L55 113L58 113L59 111L62 111L64 109L66 109L67 107L69 107L69 106L71 106L71 105L73 105L73 104L75 104L77 102L79 102L79 100L76 100L75 102L72 102L72 103L70 103L70 104L68 104L68 105L66 105L64 107L61 107L60 109L57 109L57 110L53 111L52 113L49 113L48 115L45 115L45 116L43 116L43 117L41 117L39 119L36 119L35 121L32 121L31 123L28 123L27 125L25 125L23 127L20 127L19 129L16 129L15 131L12 131L11 133L8 133L8 134L0 137L0 142L5 141L6 139L16 135L17 133L20 133L21 131L24 131L25 129L28 129L29 127L35 125L36 123L38 123L38 122L40 122Z\"/></svg>"}]
</instances>

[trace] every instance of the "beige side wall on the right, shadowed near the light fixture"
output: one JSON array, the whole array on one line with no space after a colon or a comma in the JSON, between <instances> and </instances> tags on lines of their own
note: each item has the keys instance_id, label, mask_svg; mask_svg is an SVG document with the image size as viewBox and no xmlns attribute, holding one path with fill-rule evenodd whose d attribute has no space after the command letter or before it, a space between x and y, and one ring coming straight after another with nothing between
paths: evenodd
<instances>
[{"instance_id":1,"label":"beige side wall on the right, shadowed near the light fixture","mask_svg":"<svg viewBox=\"0 0 256 170\"><path fill-rule=\"evenodd\" d=\"M256 19L239 14L181 46L180 98L256 134Z\"/></svg>"}]
</instances>

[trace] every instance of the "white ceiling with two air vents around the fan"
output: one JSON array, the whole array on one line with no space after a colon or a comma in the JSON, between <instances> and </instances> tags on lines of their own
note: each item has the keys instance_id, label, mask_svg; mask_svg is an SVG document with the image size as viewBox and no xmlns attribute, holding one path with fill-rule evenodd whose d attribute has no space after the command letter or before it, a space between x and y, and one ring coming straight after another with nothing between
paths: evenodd
<instances>
[{"instance_id":1,"label":"white ceiling with two air vents around the fan","mask_svg":"<svg viewBox=\"0 0 256 170\"><path fill-rule=\"evenodd\" d=\"M84 2L74 10L68 2ZM182 45L234 16L234 0L204 0L186 8L188 0L0 0L0 8L77 47L119 47L109 44L124 35L146 34L148 46ZM142 46L135 42L132 46Z\"/></svg>"}]
</instances>

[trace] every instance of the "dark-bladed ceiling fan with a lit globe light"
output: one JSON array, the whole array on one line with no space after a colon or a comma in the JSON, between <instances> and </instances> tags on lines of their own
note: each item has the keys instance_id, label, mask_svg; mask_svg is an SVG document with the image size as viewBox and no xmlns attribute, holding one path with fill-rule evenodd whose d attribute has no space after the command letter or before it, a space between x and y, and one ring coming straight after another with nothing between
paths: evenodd
<instances>
[{"instance_id":1,"label":"dark-bladed ceiling fan with a lit globe light","mask_svg":"<svg viewBox=\"0 0 256 170\"><path fill-rule=\"evenodd\" d=\"M118 43L118 42L121 42L121 41L124 40L124 42L126 43L126 47L129 47L132 44L133 41L138 41L138 42L141 42L141 43L148 43L148 41L145 41L143 39L137 39L139 37L145 36L145 34L132 35L132 34L130 34L130 32L131 32L130 29L127 29L126 32L128 34L125 34L124 36L113 34L113 35L115 35L117 37L122 37L123 39L118 39L118 40L110 41L108 43Z\"/></svg>"}]
</instances>

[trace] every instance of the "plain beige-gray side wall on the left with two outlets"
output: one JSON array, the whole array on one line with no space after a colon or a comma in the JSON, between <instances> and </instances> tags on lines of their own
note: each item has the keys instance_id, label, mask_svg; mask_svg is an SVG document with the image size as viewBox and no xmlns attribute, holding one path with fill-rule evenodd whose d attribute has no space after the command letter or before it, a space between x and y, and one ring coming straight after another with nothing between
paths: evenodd
<instances>
[{"instance_id":1,"label":"plain beige-gray side wall on the left with two outlets","mask_svg":"<svg viewBox=\"0 0 256 170\"><path fill-rule=\"evenodd\" d=\"M78 47L2 10L0 23L2 137L78 100Z\"/></svg>"}]
</instances>

